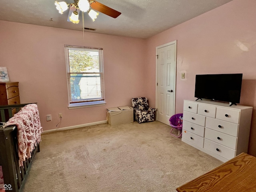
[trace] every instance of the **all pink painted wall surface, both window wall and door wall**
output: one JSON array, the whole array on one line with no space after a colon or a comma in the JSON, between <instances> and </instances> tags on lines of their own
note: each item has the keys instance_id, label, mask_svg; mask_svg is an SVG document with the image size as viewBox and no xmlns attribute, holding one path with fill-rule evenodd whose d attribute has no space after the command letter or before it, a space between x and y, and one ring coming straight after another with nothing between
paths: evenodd
<instances>
[{"instance_id":1,"label":"all pink painted wall surface, both window wall and door wall","mask_svg":"<svg viewBox=\"0 0 256 192\"><path fill-rule=\"evenodd\" d=\"M0 66L20 82L22 103L38 102L50 130L60 112L60 127L68 127L104 121L106 108L130 105L136 96L154 107L156 46L177 40L176 113L184 99L194 99L196 74L243 73L240 104L254 107L249 153L256 156L255 23L255 0L233 0L147 40L85 33L83 41L78 31L0 21ZM104 49L106 106L68 110L64 44Z\"/></svg>"}]
</instances>

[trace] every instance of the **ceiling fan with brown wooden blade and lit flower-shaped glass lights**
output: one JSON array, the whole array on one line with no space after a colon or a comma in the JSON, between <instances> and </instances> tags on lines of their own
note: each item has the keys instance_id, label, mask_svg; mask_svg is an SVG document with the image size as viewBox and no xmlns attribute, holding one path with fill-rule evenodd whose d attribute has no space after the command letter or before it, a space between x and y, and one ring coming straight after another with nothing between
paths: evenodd
<instances>
[{"instance_id":1,"label":"ceiling fan with brown wooden blade and lit flower-shaped glass lights","mask_svg":"<svg viewBox=\"0 0 256 192\"><path fill-rule=\"evenodd\" d=\"M68 14L68 21L71 21L73 23L79 23L78 17L80 11L88 12L88 15L90 16L90 18L92 18L92 21L97 18L97 16L99 15L98 12L106 14L112 18L117 18L121 14L120 12L95 0L74 0L74 3L69 4L64 1L55 1L54 4L56 5L56 9L59 11L60 14L63 14L64 11L70 8ZM98 12L96 12L95 10Z\"/></svg>"}]
</instances>

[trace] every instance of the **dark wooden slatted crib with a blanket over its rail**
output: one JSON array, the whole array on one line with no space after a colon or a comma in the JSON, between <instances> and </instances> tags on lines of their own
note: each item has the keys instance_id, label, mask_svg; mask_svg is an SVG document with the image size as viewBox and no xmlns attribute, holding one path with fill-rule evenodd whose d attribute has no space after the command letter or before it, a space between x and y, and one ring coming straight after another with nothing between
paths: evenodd
<instances>
[{"instance_id":1,"label":"dark wooden slatted crib with a blanket over its rail","mask_svg":"<svg viewBox=\"0 0 256 192\"><path fill-rule=\"evenodd\" d=\"M14 113L26 105L28 104L0 106L1 122L7 122ZM0 166L2 166L4 179L2 185L6 191L22 192L36 152L40 152L39 143L30 153L31 158L26 159L23 166L19 166L17 127L0 127Z\"/></svg>"}]
</instances>

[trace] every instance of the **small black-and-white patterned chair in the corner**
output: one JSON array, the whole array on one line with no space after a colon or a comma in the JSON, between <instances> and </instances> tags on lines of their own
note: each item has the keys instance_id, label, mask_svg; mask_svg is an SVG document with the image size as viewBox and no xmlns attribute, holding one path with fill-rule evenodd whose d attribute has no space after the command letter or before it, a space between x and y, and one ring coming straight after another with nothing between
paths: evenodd
<instances>
[{"instance_id":1,"label":"small black-and-white patterned chair in the corner","mask_svg":"<svg viewBox=\"0 0 256 192\"><path fill-rule=\"evenodd\" d=\"M134 110L135 120L139 123L155 120L156 109L149 107L148 98L132 98L132 108Z\"/></svg>"}]
</instances>

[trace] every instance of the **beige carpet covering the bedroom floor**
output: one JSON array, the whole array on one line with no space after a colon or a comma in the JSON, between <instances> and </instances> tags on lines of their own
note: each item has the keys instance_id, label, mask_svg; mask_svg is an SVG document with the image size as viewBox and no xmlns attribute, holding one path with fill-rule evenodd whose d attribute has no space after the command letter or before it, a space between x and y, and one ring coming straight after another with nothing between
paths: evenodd
<instances>
[{"instance_id":1,"label":"beige carpet covering the bedroom floor","mask_svg":"<svg viewBox=\"0 0 256 192\"><path fill-rule=\"evenodd\" d=\"M160 122L42 135L24 192L175 192L222 164Z\"/></svg>"}]
</instances>

